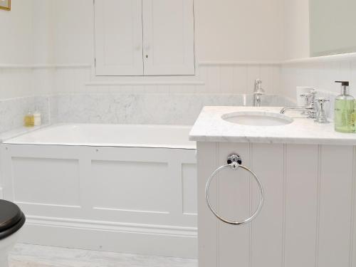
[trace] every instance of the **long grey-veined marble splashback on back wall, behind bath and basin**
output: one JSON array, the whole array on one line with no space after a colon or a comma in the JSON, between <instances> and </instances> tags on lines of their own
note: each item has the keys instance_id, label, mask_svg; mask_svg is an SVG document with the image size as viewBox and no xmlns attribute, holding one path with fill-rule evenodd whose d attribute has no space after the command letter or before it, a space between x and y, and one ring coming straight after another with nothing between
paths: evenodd
<instances>
[{"instance_id":1,"label":"long grey-veined marble splashback on back wall, behind bath and basin","mask_svg":"<svg viewBox=\"0 0 356 267\"><path fill-rule=\"evenodd\" d=\"M206 105L251 105L251 95L234 94L61 94L51 97L53 122L193 125ZM263 105L291 105L264 95Z\"/></svg>"}]
</instances>

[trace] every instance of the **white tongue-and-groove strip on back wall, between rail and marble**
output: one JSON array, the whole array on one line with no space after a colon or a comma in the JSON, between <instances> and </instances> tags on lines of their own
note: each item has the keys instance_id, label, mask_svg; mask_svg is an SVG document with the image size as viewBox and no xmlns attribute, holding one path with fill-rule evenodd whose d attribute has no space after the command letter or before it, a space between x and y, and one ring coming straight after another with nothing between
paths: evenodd
<instances>
[{"instance_id":1,"label":"white tongue-and-groove strip on back wall, between rail and marble","mask_svg":"<svg viewBox=\"0 0 356 267\"><path fill-rule=\"evenodd\" d=\"M266 93L281 93L281 66L279 64L221 64L219 62L200 65L194 76L176 75L173 78L172 76L94 77L87 66L57 68L55 92L251 94L254 80L257 78L263 80ZM164 88L159 85L164 85Z\"/></svg>"}]
</instances>

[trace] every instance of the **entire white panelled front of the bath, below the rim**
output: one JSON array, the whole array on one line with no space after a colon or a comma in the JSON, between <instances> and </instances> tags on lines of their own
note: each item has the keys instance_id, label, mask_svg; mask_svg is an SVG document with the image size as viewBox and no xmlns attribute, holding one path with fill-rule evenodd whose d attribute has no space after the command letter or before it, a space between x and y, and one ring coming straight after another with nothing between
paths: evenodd
<instances>
[{"instance_id":1,"label":"entire white panelled front of the bath, below the rim","mask_svg":"<svg viewBox=\"0 0 356 267\"><path fill-rule=\"evenodd\" d=\"M17 202L27 219L21 242L197 256L197 215L184 213L184 209L194 211L195 150L2 144L1 159L1 186L6 199L18 198L16 179L19 172L21 179L26 177L21 169L27 165L36 170L31 179L50 176L55 180L46 187L58 188L53 194L46 192L48 199L36 199L42 192L34 197L30 193L46 188L37 183L32 189L34 185L30 184L30 193L20 199L26 203ZM19 164L19 159L30 163ZM184 187L189 190L184 191ZM68 197L69 193L72 196Z\"/></svg>"}]
</instances>

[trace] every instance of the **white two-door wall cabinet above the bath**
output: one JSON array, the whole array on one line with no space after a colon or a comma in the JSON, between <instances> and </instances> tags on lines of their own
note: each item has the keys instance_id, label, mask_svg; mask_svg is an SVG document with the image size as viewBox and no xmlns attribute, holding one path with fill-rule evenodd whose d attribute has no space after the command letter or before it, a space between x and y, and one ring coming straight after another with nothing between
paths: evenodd
<instances>
[{"instance_id":1,"label":"white two-door wall cabinet above the bath","mask_svg":"<svg viewBox=\"0 0 356 267\"><path fill-rule=\"evenodd\" d=\"M194 75L193 0L95 0L96 75Z\"/></svg>"}]
</instances>

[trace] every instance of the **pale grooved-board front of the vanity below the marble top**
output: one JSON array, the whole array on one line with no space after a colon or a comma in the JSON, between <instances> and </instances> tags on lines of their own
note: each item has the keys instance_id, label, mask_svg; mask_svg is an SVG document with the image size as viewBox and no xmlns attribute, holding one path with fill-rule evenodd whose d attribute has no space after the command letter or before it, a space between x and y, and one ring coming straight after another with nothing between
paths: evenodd
<instances>
[{"instance_id":1,"label":"pale grooved-board front of the vanity below the marble top","mask_svg":"<svg viewBox=\"0 0 356 267\"><path fill-rule=\"evenodd\" d=\"M354 266L355 148L328 145L198 142L199 266ZM244 226L224 224L206 206L212 171L238 152L261 179L265 202ZM258 204L258 188L241 169L211 183L219 214L243 219ZM217 242L216 242L217 241Z\"/></svg>"}]
</instances>

